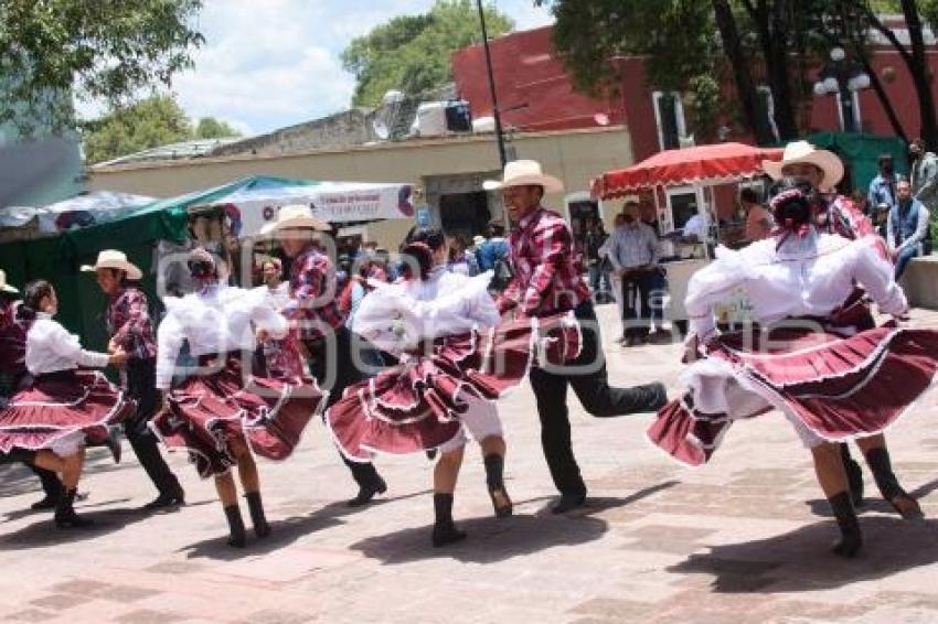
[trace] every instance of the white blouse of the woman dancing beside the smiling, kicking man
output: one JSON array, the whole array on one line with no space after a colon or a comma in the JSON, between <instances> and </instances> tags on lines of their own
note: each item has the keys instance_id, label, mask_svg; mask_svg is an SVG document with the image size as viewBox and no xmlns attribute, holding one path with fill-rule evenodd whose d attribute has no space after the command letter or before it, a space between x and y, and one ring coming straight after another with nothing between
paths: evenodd
<instances>
[{"instance_id":1,"label":"white blouse of the woman dancing beside the smiling, kicking man","mask_svg":"<svg viewBox=\"0 0 938 624\"><path fill-rule=\"evenodd\" d=\"M437 267L427 280L377 284L362 300L352 331L393 354L419 341L493 327L501 316L488 287L492 272L467 277Z\"/></svg>"}]
</instances>

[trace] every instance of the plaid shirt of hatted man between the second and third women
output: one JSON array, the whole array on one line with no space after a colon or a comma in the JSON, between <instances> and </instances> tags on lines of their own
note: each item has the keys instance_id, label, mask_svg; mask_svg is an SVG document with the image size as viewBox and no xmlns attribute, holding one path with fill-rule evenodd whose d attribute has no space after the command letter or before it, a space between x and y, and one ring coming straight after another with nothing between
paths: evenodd
<instances>
[{"instance_id":1,"label":"plaid shirt of hatted man between the second and third women","mask_svg":"<svg viewBox=\"0 0 938 624\"><path fill-rule=\"evenodd\" d=\"M335 292L335 269L326 254L308 247L290 268L290 303L283 310L301 340L321 336L345 323Z\"/></svg>"}]
</instances>

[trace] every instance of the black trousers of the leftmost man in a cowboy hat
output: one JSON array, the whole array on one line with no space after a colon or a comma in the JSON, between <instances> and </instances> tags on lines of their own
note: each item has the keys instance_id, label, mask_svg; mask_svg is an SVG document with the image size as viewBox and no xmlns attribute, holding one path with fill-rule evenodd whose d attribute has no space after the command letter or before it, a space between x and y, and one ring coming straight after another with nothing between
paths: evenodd
<instances>
[{"instance_id":1,"label":"black trousers of the leftmost man in a cowboy hat","mask_svg":"<svg viewBox=\"0 0 938 624\"><path fill-rule=\"evenodd\" d=\"M124 421L124 434L159 493L170 496L182 487L160 454L157 437L148 427L160 405L156 381L156 358L127 362L127 395L137 401L137 411Z\"/></svg>"}]
</instances>

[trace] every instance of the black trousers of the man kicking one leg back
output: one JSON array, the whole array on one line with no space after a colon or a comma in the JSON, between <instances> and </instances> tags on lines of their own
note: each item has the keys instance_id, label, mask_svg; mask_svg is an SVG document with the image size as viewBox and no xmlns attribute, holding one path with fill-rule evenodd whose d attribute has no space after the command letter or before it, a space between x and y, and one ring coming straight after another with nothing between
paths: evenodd
<instances>
[{"instance_id":1,"label":"black trousers of the man kicking one leg back","mask_svg":"<svg viewBox=\"0 0 938 624\"><path fill-rule=\"evenodd\" d=\"M630 413L635 399L627 388L609 386L606 356L599 338L599 324L593 303L585 301L574 311L583 327L583 351L563 372L531 369L531 387L541 418L541 445L554 485L562 494L585 494L586 484L573 454L567 387L583 407L596 417ZM580 368L580 370L572 370Z\"/></svg>"}]
</instances>

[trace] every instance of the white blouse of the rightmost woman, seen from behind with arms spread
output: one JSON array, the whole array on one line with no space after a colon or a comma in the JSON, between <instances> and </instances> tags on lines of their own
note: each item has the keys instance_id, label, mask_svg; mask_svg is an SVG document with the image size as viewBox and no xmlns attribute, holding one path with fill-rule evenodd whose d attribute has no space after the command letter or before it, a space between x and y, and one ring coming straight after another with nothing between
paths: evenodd
<instances>
[{"instance_id":1,"label":"white blouse of the rightmost woman, seen from behind with arms spread","mask_svg":"<svg viewBox=\"0 0 938 624\"><path fill-rule=\"evenodd\" d=\"M691 334L702 338L716 324L713 306L743 287L754 316L771 323L787 316L827 316L862 286L885 314L903 314L905 293L893 279L893 267L876 255L867 239L848 240L813 228L803 238L767 238L738 251L717 249L717 259L694 273L684 306Z\"/></svg>"}]
</instances>

